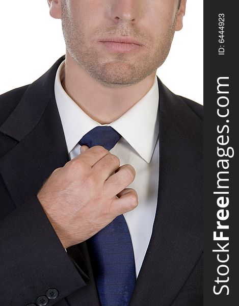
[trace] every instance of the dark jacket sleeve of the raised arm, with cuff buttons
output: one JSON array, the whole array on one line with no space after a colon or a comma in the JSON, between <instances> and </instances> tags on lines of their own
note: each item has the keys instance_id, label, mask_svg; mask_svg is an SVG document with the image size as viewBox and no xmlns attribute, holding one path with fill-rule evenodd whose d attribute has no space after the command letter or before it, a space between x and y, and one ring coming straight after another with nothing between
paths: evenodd
<instances>
[{"instance_id":1,"label":"dark jacket sleeve of the raised arm, with cuff buttons","mask_svg":"<svg viewBox=\"0 0 239 306\"><path fill-rule=\"evenodd\" d=\"M0 306L47 306L86 285L37 197L0 221ZM44 297L45 296L45 297Z\"/></svg>"}]
</instances>

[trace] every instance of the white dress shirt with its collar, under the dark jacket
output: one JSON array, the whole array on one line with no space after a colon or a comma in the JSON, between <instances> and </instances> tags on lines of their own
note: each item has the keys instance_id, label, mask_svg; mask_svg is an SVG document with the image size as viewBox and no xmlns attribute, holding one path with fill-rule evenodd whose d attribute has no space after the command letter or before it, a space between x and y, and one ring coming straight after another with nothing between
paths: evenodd
<instances>
[{"instance_id":1,"label":"white dress shirt with its collar, under the dark jacket","mask_svg":"<svg viewBox=\"0 0 239 306\"><path fill-rule=\"evenodd\" d=\"M70 98L61 85L63 66L58 68L55 80L55 96L61 117L69 158L80 154L79 140L101 124L90 118ZM97 97L96 97L97 98ZM136 177L128 187L138 193L139 205L125 213L134 249L136 275L138 277L149 240L157 206L159 151L158 151L158 85L155 82L148 93L120 118L110 124L122 138L110 150L120 160L120 165L130 164Z\"/></svg>"}]
</instances>

